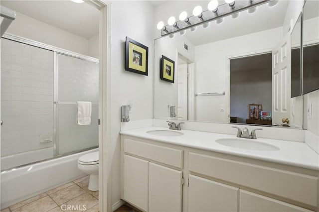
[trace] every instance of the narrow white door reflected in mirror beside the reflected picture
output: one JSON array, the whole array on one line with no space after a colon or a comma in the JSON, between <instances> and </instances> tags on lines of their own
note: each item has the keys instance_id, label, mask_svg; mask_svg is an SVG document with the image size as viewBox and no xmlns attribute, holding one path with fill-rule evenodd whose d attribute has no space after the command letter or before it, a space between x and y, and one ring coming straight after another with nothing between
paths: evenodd
<instances>
[{"instance_id":1,"label":"narrow white door reflected in mirror beside the reflected picture","mask_svg":"<svg viewBox=\"0 0 319 212\"><path fill-rule=\"evenodd\" d=\"M178 65L178 119L187 120L187 64Z\"/></svg>"}]
</instances>

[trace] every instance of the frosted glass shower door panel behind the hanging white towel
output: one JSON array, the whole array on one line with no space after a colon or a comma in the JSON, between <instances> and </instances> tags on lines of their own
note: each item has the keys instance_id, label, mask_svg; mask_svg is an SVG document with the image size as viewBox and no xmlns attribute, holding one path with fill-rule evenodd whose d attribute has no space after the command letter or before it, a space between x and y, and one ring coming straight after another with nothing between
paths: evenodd
<instances>
[{"instance_id":1,"label":"frosted glass shower door panel behind the hanging white towel","mask_svg":"<svg viewBox=\"0 0 319 212\"><path fill-rule=\"evenodd\" d=\"M55 128L56 155L98 146L99 64L56 54ZM91 102L90 125L78 125L77 102Z\"/></svg>"}]
</instances>

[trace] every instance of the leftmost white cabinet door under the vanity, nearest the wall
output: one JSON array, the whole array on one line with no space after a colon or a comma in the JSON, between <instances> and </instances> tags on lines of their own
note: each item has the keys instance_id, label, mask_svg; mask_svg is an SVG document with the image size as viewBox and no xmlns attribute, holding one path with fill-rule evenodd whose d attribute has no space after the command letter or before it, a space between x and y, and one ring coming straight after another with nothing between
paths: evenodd
<instances>
[{"instance_id":1,"label":"leftmost white cabinet door under the vanity, nearest the wall","mask_svg":"<svg viewBox=\"0 0 319 212\"><path fill-rule=\"evenodd\" d=\"M149 162L124 155L124 200L148 211L148 182Z\"/></svg>"}]
</instances>

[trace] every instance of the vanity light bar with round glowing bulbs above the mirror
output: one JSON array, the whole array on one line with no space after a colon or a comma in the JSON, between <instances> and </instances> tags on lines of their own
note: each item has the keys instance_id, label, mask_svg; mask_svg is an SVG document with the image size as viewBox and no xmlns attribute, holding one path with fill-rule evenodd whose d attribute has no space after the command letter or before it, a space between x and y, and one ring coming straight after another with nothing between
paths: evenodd
<instances>
[{"instance_id":1,"label":"vanity light bar with round glowing bulbs above the mirror","mask_svg":"<svg viewBox=\"0 0 319 212\"><path fill-rule=\"evenodd\" d=\"M231 15L233 18L239 16L240 12L248 10L248 12L256 11L257 6L268 3L268 6L276 5L279 0L225 0L226 3L218 5L218 0L210 0L207 8L203 11L200 5L195 6L192 13L193 15L187 17L187 12L182 11L179 14L179 20L176 21L175 17L171 16L168 19L168 25L160 28L161 24L158 23L158 29L161 30L161 36L166 36L179 32L181 35L185 34L186 29L195 31L196 26L203 25L204 28L210 25L209 22L216 20L217 24L223 22L225 16ZM235 5L236 4L236 5Z\"/></svg>"}]
</instances>

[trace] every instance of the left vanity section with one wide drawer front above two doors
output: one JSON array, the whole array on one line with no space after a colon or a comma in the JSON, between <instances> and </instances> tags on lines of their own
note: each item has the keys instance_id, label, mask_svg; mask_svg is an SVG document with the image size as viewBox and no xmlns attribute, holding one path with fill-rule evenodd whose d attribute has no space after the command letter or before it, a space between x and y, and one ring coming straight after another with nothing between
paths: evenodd
<instances>
[{"instance_id":1,"label":"left vanity section with one wide drawer front above two doors","mask_svg":"<svg viewBox=\"0 0 319 212\"><path fill-rule=\"evenodd\" d=\"M146 212L181 212L183 151L123 136L121 148L121 198Z\"/></svg>"}]
</instances>

